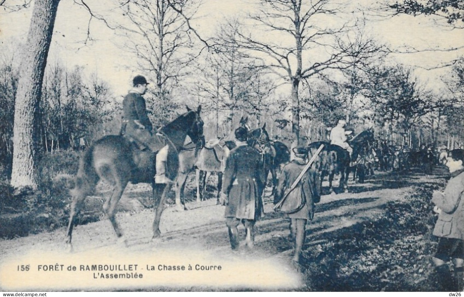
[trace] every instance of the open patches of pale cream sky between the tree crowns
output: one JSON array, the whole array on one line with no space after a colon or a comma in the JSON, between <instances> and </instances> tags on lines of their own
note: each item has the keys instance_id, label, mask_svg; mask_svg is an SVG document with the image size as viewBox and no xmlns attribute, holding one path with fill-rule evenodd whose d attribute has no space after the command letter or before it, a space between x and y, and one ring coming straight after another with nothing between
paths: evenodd
<instances>
[{"instance_id":1,"label":"open patches of pale cream sky between the tree crowns","mask_svg":"<svg viewBox=\"0 0 464 297\"><path fill-rule=\"evenodd\" d=\"M6 3L8 1L15 0L6 0ZM353 10L360 9L368 2L369 0L352 2ZM106 1L88 0L87 3L95 11L108 10L107 6L103 6L108 3ZM251 4L245 0L203 0L203 5L198 12L198 15L202 17L193 25L197 27L200 34L209 36L213 34L218 22L225 17L237 13L243 15L250 11L250 7ZM2 44L0 50L2 48L11 50L6 44L11 43L13 39L25 40L30 22L30 11L31 9L13 13L1 12L0 42ZM102 79L108 81L115 95L123 95L130 87L131 78L137 74L131 69L131 65L135 65L134 57L118 49L113 44L116 38L113 31L97 20L94 20L91 26L92 37L97 41L83 47L82 40L85 38L88 20L89 14L83 7L77 6L71 0L61 1L49 62L59 59L68 67L85 66L87 71L97 72ZM376 38L390 43L393 48L409 45L417 49L446 49L464 45L464 29L449 30L446 27L440 27L430 17L397 16L369 21L366 28ZM458 56L464 56L464 50L401 54L394 55L394 58L406 65L428 68L451 61ZM449 73L449 68L417 71L420 78L432 88L439 88L439 76L447 73Z\"/></svg>"}]
</instances>

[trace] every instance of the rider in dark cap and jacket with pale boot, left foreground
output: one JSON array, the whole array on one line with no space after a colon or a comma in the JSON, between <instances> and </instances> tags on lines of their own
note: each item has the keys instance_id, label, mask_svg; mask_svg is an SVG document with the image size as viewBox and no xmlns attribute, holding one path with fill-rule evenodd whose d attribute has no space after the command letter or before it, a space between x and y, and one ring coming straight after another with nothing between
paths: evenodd
<instances>
[{"instance_id":1,"label":"rider in dark cap and jacket with pale boot, left foreground","mask_svg":"<svg viewBox=\"0 0 464 297\"><path fill-rule=\"evenodd\" d=\"M122 101L123 124L125 124L124 134L141 142L156 154L155 183L173 183L172 180L166 177L169 146L157 133L153 132L153 125L147 115L145 99L142 97L147 91L148 82L142 75L137 75L132 80L132 83L133 88Z\"/></svg>"}]
</instances>

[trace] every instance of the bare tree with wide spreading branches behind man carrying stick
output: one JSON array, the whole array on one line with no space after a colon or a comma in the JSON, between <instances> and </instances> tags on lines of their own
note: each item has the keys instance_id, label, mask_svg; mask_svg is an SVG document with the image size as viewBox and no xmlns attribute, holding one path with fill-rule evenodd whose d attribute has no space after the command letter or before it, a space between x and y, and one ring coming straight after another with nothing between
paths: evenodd
<instances>
[{"instance_id":1,"label":"bare tree with wide spreading branches behind man carrying stick","mask_svg":"<svg viewBox=\"0 0 464 297\"><path fill-rule=\"evenodd\" d=\"M251 20L268 33L260 37L243 35L243 46L264 53L266 61L270 61L267 65L290 82L292 130L298 140L301 82L326 69L344 69L359 63L374 56L380 46L364 36L349 34L347 24L332 28L326 25L322 17L341 12L342 5L334 0L259 0L258 5L259 12L251 15ZM278 34L280 42L262 37L274 34ZM285 44L285 40L292 42Z\"/></svg>"}]
</instances>

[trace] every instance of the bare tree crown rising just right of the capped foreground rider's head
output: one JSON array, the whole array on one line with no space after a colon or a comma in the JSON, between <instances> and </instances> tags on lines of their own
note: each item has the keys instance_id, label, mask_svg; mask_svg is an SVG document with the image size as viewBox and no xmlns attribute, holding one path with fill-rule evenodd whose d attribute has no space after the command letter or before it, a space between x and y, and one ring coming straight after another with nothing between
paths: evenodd
<instances>
[{"instance_id":1,"label":"bare tree crown rising just right of the capped foreground rider's head","mask_svg":"<svg viewBox=\"0 0 464 297\"><path fill-rule=\"evenodd\" d=\"M195 57L187 19L198 7L192 0L175 4L185 16L168 0L129 0L121 7L129 23L118 27L120 34L127 37L123 49L137 56L134 68L152 78L157 96L172 91L189 73L188 64Z\"/></svg>"}]
</instances>

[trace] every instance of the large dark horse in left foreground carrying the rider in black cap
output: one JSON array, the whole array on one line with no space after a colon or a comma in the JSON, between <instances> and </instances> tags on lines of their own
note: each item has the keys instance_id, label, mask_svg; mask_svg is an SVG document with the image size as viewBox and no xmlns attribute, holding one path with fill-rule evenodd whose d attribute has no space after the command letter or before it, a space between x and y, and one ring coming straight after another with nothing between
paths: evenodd
<instances>
[{"instance_id":1,"label":"large dark horse in left foreground carrying the rider in black cap","mask_svg":"<svg viewBox=\"0 0 464 297\"><path fill-rule=\"evenodd\" d=\"M186 136L190 136L193 142L197 142L203 136L203 121L200 118L200 110L200 106L197 111L188 109L187 113L160 130L169 145L166 174L172 180L175 179L178 172L178 152L182 148ZM75 217L82 208L85 197L95 190L100 179L114 186L111 197L103 205L103 210L108 215L117 237L126 245L127 242L115 219L116 204L129 181L133 184L150 183L153 189L155 211L152 239L159 237L161 235L159 225L163 204L171 185L155 184L154 176L155 154L136 148L126 137L109 135L94 142L84 151L84 155L80 159L75 179L76 186L71 191L73 199L66 233L66 243L69 248L72 249L71 234Z\"/></svg>"}]
</instances>

